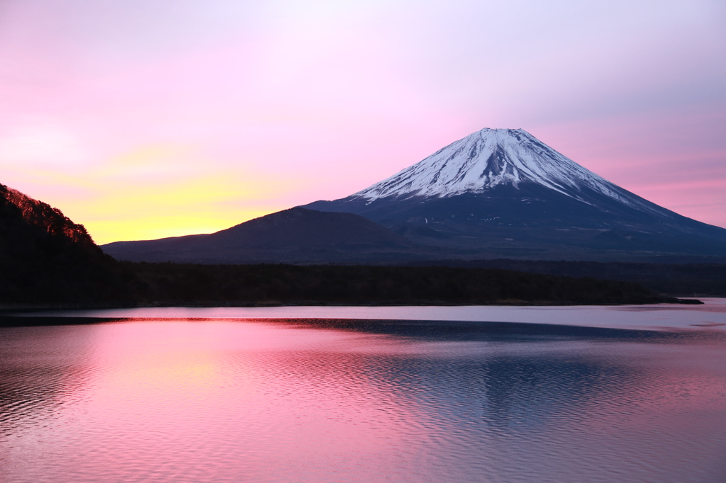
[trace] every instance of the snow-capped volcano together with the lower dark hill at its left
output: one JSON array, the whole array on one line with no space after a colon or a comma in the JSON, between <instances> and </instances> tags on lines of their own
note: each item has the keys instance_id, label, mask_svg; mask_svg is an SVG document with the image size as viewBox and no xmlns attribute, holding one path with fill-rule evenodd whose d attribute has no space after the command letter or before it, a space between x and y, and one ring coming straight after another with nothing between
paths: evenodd
<instances>
[{"instance_id":1,"label":"snow-capped volcano together with the lower dark hill at its left","mask_svg":"<svg viewBox=\"0 0 726 483\"><path fill-rule=\"evenodd\" d=\"M391 263L726 257L726 229L666 210L521 129L483 129L351 196L215 234L102 247L120 260Z\"/></svg>"}]
</instances>

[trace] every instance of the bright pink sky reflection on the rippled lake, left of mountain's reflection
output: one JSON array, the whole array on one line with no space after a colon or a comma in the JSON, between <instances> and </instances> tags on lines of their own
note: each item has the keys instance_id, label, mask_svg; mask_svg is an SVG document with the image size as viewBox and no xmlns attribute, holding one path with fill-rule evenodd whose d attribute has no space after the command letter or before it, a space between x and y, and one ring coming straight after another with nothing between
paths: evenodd
<instances>
[{"instance_id":1,"label":"bright pink sky reflection on the rippled lake, left of mountain's reflection","mask_svg":"<svg viewBox=\"0 0 726 483\"><path fill-rule=\"evenodd\" d=\"M403 344L391 337L213 321L105 324L94 336L87 438L74 448L86 466L186 468L192 481L264 481L270 467L280 476L331 461L386 472L378 455L425 439L422 415L371 379L364 347Z\"/></svg>"}]
</instances>

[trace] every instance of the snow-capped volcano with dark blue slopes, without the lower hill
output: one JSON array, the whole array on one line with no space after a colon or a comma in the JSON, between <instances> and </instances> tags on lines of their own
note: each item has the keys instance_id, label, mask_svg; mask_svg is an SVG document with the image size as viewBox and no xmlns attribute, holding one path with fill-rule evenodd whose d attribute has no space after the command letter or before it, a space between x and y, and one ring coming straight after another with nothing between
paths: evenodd
<instances>
[{"instance_id":1,"label":"snow-capped volcano with dark blue slopes, without the lower hill","mask_svg":"<svg viewBox=\"0 0 726 483\"><path fill-rule=\"evenodd\" d=\"M352 212L467 256L726 257L726 229L638 197L522 129L482 129L346 198L303 207Z\"/></svg>"}]
</instances>

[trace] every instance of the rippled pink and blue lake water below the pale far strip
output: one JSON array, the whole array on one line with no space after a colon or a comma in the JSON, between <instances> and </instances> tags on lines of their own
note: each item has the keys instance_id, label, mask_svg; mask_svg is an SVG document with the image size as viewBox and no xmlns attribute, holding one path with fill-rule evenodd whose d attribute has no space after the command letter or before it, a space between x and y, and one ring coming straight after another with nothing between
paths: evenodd
<instances>
[{"instance_id":1,"label":"rippled pink and blue lake water below the pale far strip","mask_svg":"<svg viewBox=\"0 0 726 483\"><path fill-rule=\"evenodd\" d=\"M2 482L724 482L723 331L0 329Z\"/></svg>"}]
</instances>

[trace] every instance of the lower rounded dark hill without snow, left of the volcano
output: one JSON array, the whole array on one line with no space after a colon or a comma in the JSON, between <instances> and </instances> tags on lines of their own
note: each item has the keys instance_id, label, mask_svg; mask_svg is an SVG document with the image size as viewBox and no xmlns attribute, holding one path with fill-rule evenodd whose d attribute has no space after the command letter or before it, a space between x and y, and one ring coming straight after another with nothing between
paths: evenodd
<instances>
[{"instance_id":1,"label":"lower rounded dark hill without snow, left of the volcano","mask_svg":"<svg viewBox=\"0 0 726 483\"><path fill-rule=\"evenodd\" d=\"M116 241L118 260L185 263L314 263L396 257L412 243L367 218L291 208L206 235Z\"/></svg>"}]
</instances>

